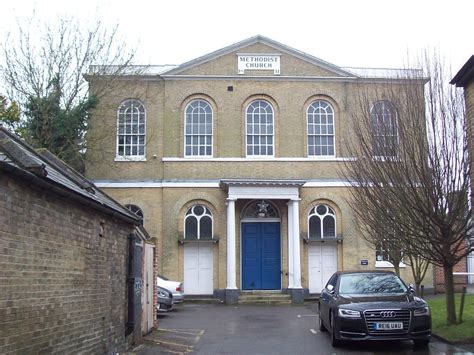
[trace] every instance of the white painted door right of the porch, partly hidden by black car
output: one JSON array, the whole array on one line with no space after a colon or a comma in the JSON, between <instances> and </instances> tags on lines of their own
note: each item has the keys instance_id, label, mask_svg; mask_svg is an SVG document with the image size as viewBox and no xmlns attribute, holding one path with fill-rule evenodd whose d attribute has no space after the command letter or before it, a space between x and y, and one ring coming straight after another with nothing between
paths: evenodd
<instances>
[{"instance_id":1,"label":"white painted door right of the porch, partly hidden by black car","mask_svg":"<svg viewBox=\"0 0 474 355\"><path fill-rule=\"evenodd\" d=\"M309 292L320 293L329 278L337 271L337 245L315 243L308 247Z\"/></svg>"}]
</instances>

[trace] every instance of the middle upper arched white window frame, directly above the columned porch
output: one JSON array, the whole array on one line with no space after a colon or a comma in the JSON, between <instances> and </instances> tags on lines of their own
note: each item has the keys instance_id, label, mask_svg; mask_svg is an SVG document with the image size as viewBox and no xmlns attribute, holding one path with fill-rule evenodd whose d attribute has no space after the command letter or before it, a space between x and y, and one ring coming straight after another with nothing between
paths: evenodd
<instances>
[{"instance_id":1,"label":"middle upper arched white window frame, directly above the columned porch","mask_svg":"<svg viewBox=\"0 0 474 355\"><path fill-rule=\"evenodd\" d=\"M253 112L249 112L249 110L253 107L254 104L256 103L265 103L267 106L265 109L269 108L271 112L266 112L265 115L271 115L271 134L267 133L267 129L265 129L265 133L262 134L261 130L263 127L268 127L268 124L262 124L261 123L261 114L260 113L255 113L256 108L253 109ZM259 132L258 134L249 133L249 118L252 118L252 124L257 120L258 122L258 128ZM249 137L252 137L253 139L258 138L259 143L257 144L250 144L249 143ZM266 139L271 139L271 145L269 144L262 144L261 139L265 137ZM253 154L253 147L259 147L259 150L262 149L263 147L266 147L266 151L268 152L268 149L271 147L272 149L272 154ZM248 148L252 147L252 154L248 154ZM262 100L262 99L257 99L253 100L245 109L245 156L247 158L273 158L275 157L275 110L273 109L273 106L270 102L267 100Z\"/></svg>"}]
</instances>

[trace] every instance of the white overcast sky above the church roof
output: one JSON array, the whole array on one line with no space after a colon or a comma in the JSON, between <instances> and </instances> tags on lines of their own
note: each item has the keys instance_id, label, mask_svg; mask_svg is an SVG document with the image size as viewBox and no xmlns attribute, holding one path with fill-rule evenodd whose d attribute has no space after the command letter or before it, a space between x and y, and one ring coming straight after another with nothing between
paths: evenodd
<instances>
[{"instance_id":1,"label":"white overcast sky above the church roof","mask_svg":"<svg viewBox=\"0 0 474 355\"><path fill-rule=\"evenodd\" d=\"M473 0L12 0L0 6L1 40L33 10L118 22L137 64L181 64L257 34L339 66L402 67L438 47L455 73L474 54Z\"/></svg>"}]
</instances>

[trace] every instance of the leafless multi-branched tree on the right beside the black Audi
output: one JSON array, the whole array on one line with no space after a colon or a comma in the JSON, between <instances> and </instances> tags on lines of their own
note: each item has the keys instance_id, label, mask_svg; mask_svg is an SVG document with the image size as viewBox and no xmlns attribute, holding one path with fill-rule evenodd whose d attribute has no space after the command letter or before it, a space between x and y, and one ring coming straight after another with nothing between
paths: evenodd
<instances>
[{"instance_id":1,"label":"leafless multi-branched tree on the right beside the black Audi","mask_svg":"<svg viewBox=\"0 0 474 355\"><path fill-rule=\"evenodd\" d=\"M382 239L389 225L412 270L424 275L427 261L443 268L447 323L455 324L453 267L470 252L466 114L439 55L425 53L421 67L375 90L360 84L347 144L354 160L341 173L359 220Z\"/></svg>"}]
</instances>

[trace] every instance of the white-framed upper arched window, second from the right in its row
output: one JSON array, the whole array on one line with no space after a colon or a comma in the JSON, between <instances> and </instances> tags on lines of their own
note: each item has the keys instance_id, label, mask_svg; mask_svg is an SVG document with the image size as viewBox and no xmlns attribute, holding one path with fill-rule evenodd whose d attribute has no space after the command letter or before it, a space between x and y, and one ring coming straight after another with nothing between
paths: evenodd
<instances>
[{"instance_id":1,"label":"white-framed upper arched window, second from the right in its row","mask_svg":"<svg viewBox=\"0 0 474 355\"><path fill-rule=\"evenodd\" d=\"M320 105L319 108L326 111L325 113L310 113L310 109L316 109L317 107L315 105ZM325 107L322 107L321 104L325 104ZM330 110L330 112L328 112ZM317 116L319 116L319 123L315 123ZM307 136L306 136L306 141L307 141L307 154L309 158L334 158L336 156L336 125L335 125L335 117L334 117L334 108L332 105L325 100L315 100L313 101L308 108L306 109L306 130L307 130ZM326 123L321 123L322 118L326 118ZM310 118L312 119L312 123L310 123ZM332 122L331 124L328 124L328 119L331 118ZM313 127L314 132L316 131L317 128L319 128L319 133L312 133L310 134L310 127ZM332 134L328 133L329 128L332 128ZM323 129L326 129L326 133L322 133ZM317 147L320 147L321 149L323 147L327 147L328 150L330 147L332 147L332 154L310 154L310 144L309 144L309 139L310 137L320 137L323 138L325 137L326 139L332 138L332 145L329 144L320 144L320 145L314 145L314 150L316 150Z\"/></svg>"}]
</instances>

